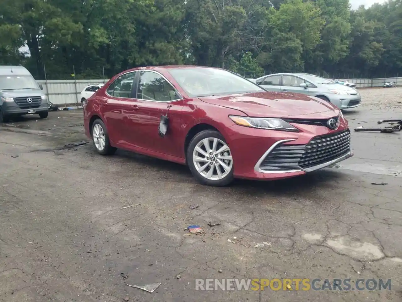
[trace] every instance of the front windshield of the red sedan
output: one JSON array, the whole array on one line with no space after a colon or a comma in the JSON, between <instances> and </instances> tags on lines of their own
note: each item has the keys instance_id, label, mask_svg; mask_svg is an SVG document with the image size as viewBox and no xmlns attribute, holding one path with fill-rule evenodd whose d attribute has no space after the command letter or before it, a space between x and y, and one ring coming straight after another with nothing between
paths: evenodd
<instances>
[{"instance_id":1,"label":"front windshield of the red sedan","mask_svg":"<svg viewBox=\"0 0 402 302\"><path fill-rule=\"evenodd\" d=\"M218 68L176 68L169 72L189 97L265 91L237 74Z\"/></svg>"}]
</instances>

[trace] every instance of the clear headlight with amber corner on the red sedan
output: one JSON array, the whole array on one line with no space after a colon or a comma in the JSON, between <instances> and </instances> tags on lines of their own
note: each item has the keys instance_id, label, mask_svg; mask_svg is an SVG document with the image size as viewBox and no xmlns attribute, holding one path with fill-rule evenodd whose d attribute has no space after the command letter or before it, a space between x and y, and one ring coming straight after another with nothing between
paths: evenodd
<instances>
[{"instance_id":1,"label":"clear headlight with amber corner on the red sedan","mask_svg":"<svg viewBox=\"0 0 402 302\"><path fill-rule=\"evenodd\" d=\"M280 118L249 118L230 115L229 118L240 126L298 132L299 130Z\"/></svg>"}]
</instances>

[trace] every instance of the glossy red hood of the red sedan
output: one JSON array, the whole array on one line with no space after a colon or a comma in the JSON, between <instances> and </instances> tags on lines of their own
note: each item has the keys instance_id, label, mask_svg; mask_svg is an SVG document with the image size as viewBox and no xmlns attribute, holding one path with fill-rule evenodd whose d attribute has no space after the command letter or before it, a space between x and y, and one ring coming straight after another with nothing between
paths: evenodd
<instances>
[{"instance_id":1,"label":"glossy red hood of the red sedan","mask_svg":"<svg viewBox=\"0 0 402 302\"><path fill-rule=\"evenodd\" d=\"M339 114L334 105L299 93L258 92L199 98L206 103L236 109L252 117L330 118Z\"/></svg>"}]
</instances>

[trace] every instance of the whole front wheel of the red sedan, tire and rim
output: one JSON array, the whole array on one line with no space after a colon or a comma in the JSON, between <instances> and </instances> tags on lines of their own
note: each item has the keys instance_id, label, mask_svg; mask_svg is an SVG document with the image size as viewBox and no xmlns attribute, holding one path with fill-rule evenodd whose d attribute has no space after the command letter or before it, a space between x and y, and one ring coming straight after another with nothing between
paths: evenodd
<instances>
[{"instance_id":1,"label":"whole front wheel of the red sedan, tire and rim","mask_svg":"<svg viewBox=\"0 0 402 302\"><path fill-rule=\"evenodd\" d=\"M233 181L232 152L222 134L199 132L187 149L187 163L194 177L209 186L226 186Z\"/></svg>"}]
</instances>

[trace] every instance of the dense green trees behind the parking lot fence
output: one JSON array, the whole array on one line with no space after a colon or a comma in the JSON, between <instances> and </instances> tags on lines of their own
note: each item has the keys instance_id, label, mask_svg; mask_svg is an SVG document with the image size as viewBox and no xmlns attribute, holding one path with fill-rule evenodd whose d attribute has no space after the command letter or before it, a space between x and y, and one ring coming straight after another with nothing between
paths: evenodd
<instances>
[{"instance_id":1,"label":"dense green trees behind the parking lot fence","mask_svg":"<svg viewBox=\"0 0 402 302\"><path fill-rule=\"evenodd\" d=\"M48 79L82 79L166 64L396 75L402 0L2 0L0 64L37 79L44 66Z\"/></svg>"}]
</instances>

